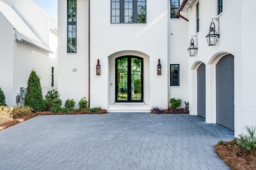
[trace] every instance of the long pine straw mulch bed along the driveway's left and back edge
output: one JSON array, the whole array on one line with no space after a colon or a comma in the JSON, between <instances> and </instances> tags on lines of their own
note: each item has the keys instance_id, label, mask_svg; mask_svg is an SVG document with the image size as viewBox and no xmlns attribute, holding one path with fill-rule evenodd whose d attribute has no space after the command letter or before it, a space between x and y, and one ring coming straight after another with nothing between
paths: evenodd
<instances>
[{"instance_id":1,"label":"long pine straw mulch bed along the driveway's left and back edge","mask_svg":"<svg viewBox=\"0 0 256 170\"><path fill-rule=\"evenodd\" d=\"M69 111L66 114L63 114L62 112L53 113L51 111L38 111L36 113L28 113L26 115L22 115L20 117L13 118L12 120L0 125L0 131L3 129L6 129L8 127L11 127L13 125L16 125L22 121L26 121L28 119L31 119L33 117L40 116L40 115L78 115L78 114L106 114L106 113L107 113L107 111L104 109L97 111L95 113L92 113L91 111L76 111L75 113Z\"/></svg>"}]
</instances>

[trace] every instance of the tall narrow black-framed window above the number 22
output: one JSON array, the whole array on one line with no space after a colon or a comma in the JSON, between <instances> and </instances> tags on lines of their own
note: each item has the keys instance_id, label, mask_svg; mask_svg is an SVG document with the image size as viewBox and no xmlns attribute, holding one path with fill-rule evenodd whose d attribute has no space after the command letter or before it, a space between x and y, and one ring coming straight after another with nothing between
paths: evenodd
<instances>
[{"instance_id":1,"label":"tall narrow black-framed window above the number 22","mask_svg":"<svg viewBox=\"0 0 256 170\"><path fill-rule=\"evenodd\" d=\"M68 0L68 53L76 53L76 0Z\"/></svg>"}]
</instances>

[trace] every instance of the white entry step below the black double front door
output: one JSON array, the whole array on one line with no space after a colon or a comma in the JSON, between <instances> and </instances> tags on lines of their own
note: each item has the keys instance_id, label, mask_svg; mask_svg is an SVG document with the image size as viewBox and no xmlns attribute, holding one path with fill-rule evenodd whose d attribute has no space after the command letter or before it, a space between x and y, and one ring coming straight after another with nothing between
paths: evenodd
<instances>
[{"instance_id":1,"label":"white entry step below the black double front door","mask_svg":"<svg viewBox=\"0 0 256 170\"><path fill-rule=\"evenodd\" d=\"M108 112L150 112L147 104L113 104L109 105Z\"/></svg>"}]
</instances>

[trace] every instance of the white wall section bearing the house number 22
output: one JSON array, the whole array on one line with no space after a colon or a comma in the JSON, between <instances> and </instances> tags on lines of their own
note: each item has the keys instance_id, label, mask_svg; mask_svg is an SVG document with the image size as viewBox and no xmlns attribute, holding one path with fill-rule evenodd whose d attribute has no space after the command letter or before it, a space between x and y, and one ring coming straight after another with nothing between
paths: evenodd
<instances>
[{"instance_id":1,"label":"white wall section bearing the house number 22","mask_svg":"<svg viewBox=\"0 0 256 170\"><path fill-rule=\"evenodd\" d=\"M68 54L67 0L58 0L58 91L63 105L69 98L78 107L81 98L88 100L88 0L77 0L76 23L77 53Z\"/></svg>"}]
</instances>

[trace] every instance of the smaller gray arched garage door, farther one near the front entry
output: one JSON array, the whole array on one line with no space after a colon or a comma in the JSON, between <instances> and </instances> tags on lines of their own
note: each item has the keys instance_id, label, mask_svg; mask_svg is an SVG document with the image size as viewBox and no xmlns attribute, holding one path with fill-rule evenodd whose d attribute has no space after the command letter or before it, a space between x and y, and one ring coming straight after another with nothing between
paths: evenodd
<instances>
[{"instance_id":1,"label":"smaller gray arched garage door, farther one near the front entry","mask_svg":"<svg viewBox=\"0 0 256 170\"><path fill-rule=\"evenodd\" d=\"M197 69L197 115L205 118L205 64Z\"/></svg>"}]
</instances>

